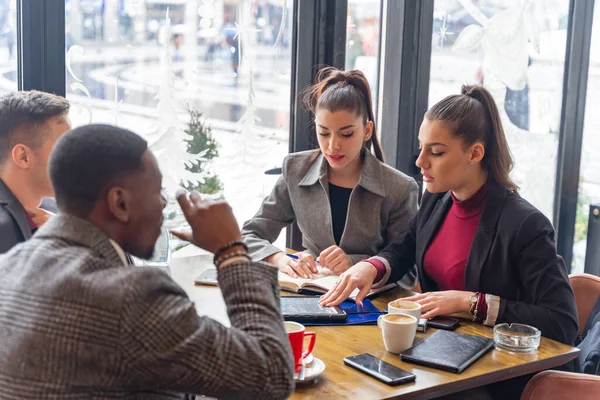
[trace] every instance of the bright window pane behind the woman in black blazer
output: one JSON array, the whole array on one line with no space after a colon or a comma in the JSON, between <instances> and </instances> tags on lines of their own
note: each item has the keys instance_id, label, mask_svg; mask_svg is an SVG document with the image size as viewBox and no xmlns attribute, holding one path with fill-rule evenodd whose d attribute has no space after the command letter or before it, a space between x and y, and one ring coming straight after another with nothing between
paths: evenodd
<instances>
[{"instance_id":1,"label":"bright window pane behind the woman in black blazer","mask_svg":"<svg viewBox=\"0 0 600 400\"><path fill-rule=\"evenodd\" d=\"M568 0L436 0L429 105L483 84L496 100L521 195L552 219Z\"/></svg>"}]
</instances>

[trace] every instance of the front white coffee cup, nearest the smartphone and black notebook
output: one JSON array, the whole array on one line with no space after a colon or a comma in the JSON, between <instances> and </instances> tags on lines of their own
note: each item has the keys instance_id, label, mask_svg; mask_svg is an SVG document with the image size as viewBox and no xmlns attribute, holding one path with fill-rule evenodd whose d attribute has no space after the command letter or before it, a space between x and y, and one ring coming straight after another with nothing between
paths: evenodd
<instances>
[{"instance_id":1,"label":"front white coffee cup, nearest the smartphone and black notebook","mask_svg":"<svg viewBox=\"0 0 600 400\"><path fill-rule=\"evenodd\" d=\"M383 344L390 353L402 353L412 347L417 333L418 320L407 314L380 315L377 326L381 328Z\"/></svg>"}]
</instances>

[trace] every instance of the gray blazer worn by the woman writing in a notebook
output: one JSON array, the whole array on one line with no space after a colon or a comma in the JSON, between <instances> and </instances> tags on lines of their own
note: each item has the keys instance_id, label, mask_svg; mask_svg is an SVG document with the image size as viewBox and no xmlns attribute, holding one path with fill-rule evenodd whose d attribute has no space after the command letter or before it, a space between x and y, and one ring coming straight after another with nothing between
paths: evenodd
<instances>
[{"instance_id":1,"label":"gray blazer worn by the woman writing in a notebook","mask_svg":"<svg viewBox=\"0 0 600 400\"><path fill-rule=\"evenodd\" d=\"M242 235L254 260L282 251L273 246L281 230L296 221L302 246L313 256L335 244L327 160L315 151L289 154L282 175L258 213L244 224ZM358 185L352 190L346 226L339 246L353 263L376 255L408 229L417 212L418 186L414 179L364 152ZM403 278L416 284L416 268Z\"/></svg>"}]
</instances>

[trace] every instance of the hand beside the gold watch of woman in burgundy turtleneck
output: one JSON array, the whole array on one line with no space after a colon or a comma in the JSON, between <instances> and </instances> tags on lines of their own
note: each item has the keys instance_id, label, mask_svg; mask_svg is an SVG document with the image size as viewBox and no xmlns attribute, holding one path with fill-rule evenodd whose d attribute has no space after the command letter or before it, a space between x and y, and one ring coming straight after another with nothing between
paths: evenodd
<instances>
[{"instance_id":1,"label":"hand beside the gold watch of woman in burgundy turtleneck","mask_svg":"<svg viewBox=\"0 0 600 400\"><path fill-rule=\"evenodd\" d=\"M421 318L433 318L438 315L448 315L457 312L468 312L471 308L469 298L475 293L462 290L443 290L427 292L403 300L414 301L421 305Z\"/></svg>"}]
</instances>

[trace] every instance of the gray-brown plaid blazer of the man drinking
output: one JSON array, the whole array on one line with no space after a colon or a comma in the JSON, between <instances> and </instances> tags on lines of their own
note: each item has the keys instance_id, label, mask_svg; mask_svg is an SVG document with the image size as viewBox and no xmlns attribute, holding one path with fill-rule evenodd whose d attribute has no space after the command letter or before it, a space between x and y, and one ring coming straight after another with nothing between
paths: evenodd
<instances>
[{"instance_id":1,"label":"gray-brown plaid blazer of the man drinking","mask_svg":"<svg viewBox=\"0 0 600 400\"><path fill-rule=\"evenodd\" d=\"M276 269L218 275L234 329L198 316L162 270L124 265L94 225L58 214L0 255L0 398L287 397Z\"/></svg>"}]
</instances>

